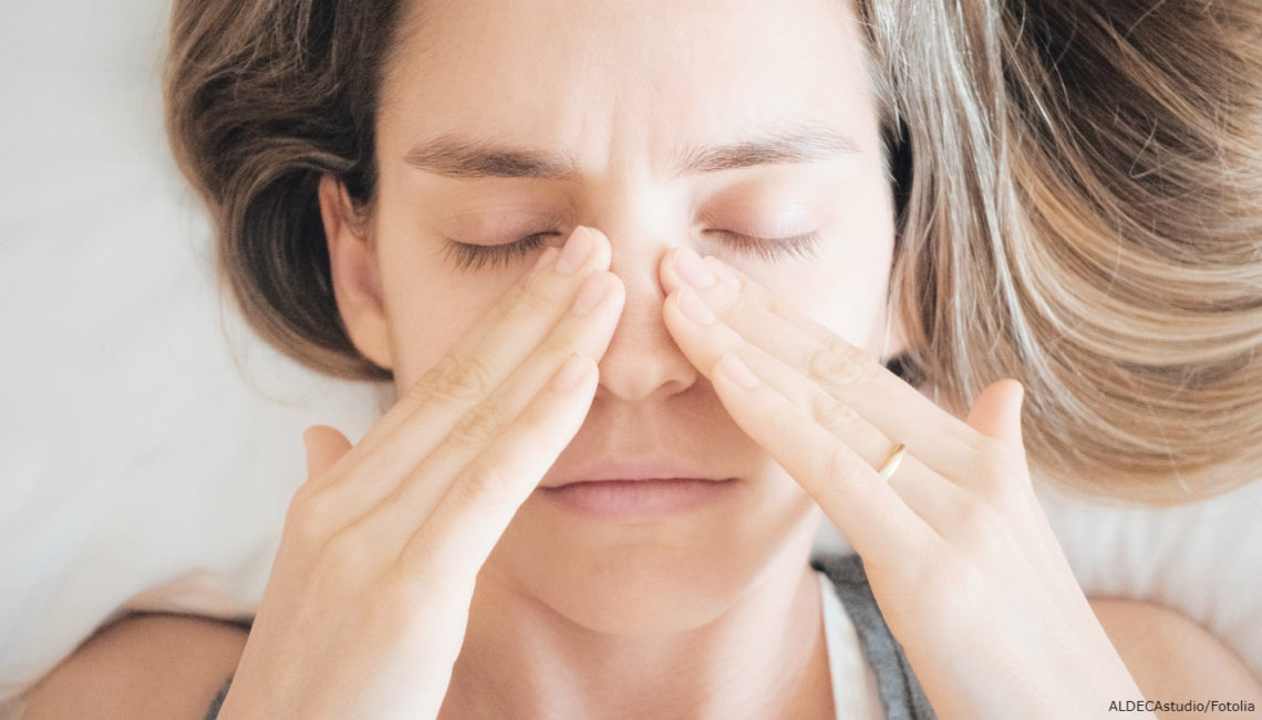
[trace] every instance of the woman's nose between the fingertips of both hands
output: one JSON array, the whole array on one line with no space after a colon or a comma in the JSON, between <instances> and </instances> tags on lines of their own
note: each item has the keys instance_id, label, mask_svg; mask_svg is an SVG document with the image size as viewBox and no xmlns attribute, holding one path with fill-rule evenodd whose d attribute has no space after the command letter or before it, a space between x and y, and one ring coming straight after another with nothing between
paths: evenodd
<instances>
[{"instance_id":1,"label":"woman's nose between the fingertips of both hands","mask_svg":"<svg viewBox=\"0 0 1262 720\"><path fill-rule=\"evenodd\" d=\"M610 270L626 286L626 305L599 362L597 398L642 401L692 387L698 378L697 368L680 352L661 318L666 293L658 277L658 265L666 246L618 247L616 237L611 245Z\"/></svg>"}]
</instances>

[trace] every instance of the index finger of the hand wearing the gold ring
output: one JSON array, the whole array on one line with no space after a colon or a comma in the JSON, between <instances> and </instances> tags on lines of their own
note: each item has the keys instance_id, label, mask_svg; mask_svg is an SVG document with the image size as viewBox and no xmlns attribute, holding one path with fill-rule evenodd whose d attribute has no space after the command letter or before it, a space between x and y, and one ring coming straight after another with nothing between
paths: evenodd
<instances>
[{"instance_id":1,"label":"index finger of the hand wearing the gold ring","mask_svg":"<svg viewBox=\"0 0 1262 720\"><path fill-rule=\"evenodd\" d=\"M981 435L934 405L916 388L876 359L796 310L774 300L764 289L716 258L699 261L679 248L664 267L664 281L674 291L668 305L678 304L684 286L700 298L722 324L746 343L794 367L825 392L854 409L887 438L943 477L958 480L969 474ZM700 271L704 270L705 275ZM727 277L727 280L721 280ZM685 279L692 282L684 284ZM699 285L699 286L698 286ZM687 315L685 315L687 316ZM676 343L704 323L668 323ZM702 362L713 364L733 348L698 348Z\"/></svg>"}]
</instances>

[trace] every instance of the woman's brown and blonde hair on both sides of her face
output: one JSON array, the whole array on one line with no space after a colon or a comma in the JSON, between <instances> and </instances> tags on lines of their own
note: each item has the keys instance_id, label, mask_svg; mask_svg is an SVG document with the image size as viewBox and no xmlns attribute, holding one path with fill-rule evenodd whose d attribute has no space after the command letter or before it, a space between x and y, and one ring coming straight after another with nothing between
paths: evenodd
<instances>
[{"instance_id":1,"label":"woman's brown and blonde hair on both sides of her face","mask_svg":"<svg viewBox=\"0 0 1262 720\"><path fill-rule=\"evenodd\" d=\"M842 1L842 0L839 0ZM172 146L269 342L386 380L316 184L375 188L396 1L175 3ZM1262 478L1262 5L858 0L897 198L891 366L963 414L1026 387L1031 465L1169 503Z\"/></svg>"}]
</instances>

